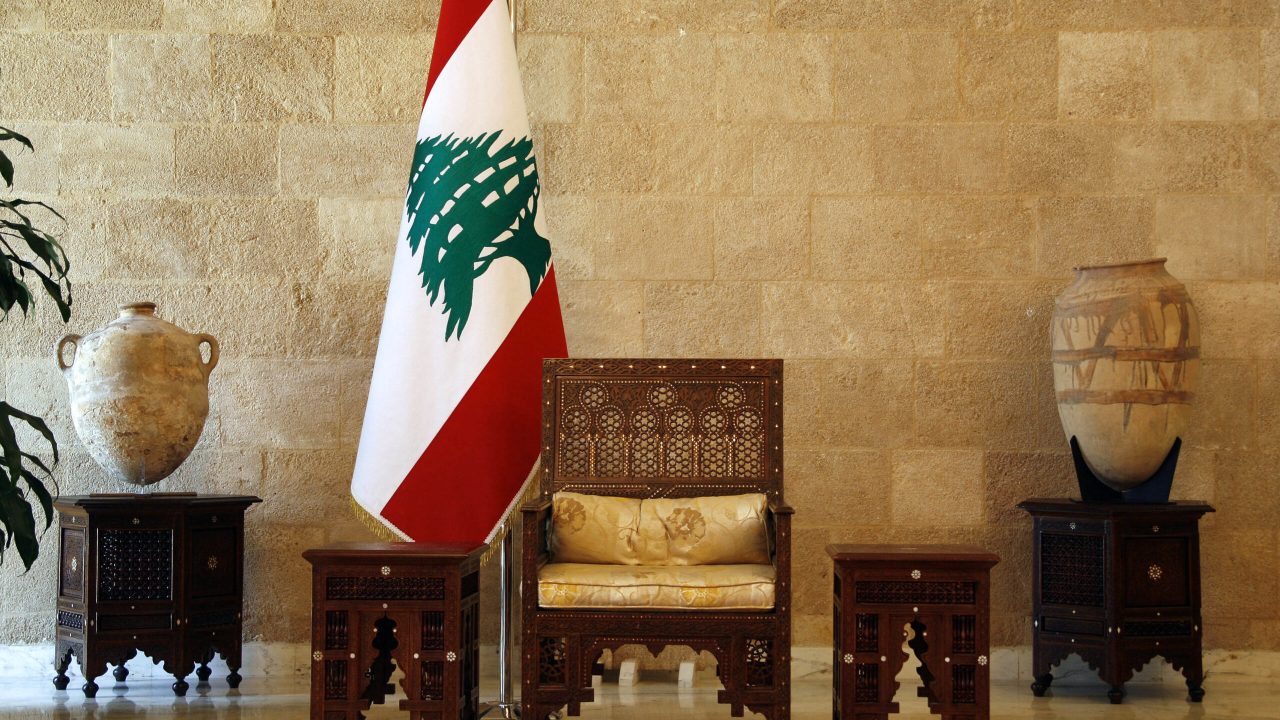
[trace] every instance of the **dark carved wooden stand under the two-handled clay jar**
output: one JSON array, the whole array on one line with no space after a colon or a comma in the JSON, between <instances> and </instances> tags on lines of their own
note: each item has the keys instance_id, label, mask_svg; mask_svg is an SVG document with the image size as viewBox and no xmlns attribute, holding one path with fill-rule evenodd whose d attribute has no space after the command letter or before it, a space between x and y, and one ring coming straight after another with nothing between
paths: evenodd
<instances>
[{"instance_id":1,"label":"dark carved wooden stand under the two-handled clay jar","mask_svg":"<svg viewBox=\"0 0 1280 720\"><path fill-rule=\"evenodd\" d=\"M124 493L60 497L54 687L67 689L72 656L86 697L114 664L140 651L175 678L209 682L214 653L227 660L227 684L241 682L244 510L241 495Z\"/></svg>"}]
</instances>

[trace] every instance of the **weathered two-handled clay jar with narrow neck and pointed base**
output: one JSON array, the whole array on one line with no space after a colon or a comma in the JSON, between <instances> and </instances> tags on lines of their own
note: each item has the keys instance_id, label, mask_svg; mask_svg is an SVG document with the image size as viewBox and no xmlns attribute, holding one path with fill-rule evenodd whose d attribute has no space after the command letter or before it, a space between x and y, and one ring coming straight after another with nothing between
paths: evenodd
<instances>
[{"instance_id":1,"label":"weathered two-handled clay jar with narrow neck and pointed base","mask_svg":"<svg viewBox=\"0 0 1280 720\"><path fill-rule=\"evenodd\" d=\"M84 447L110 475L138 486L169 477L196 447L218 365L214 336L188 333L155 313L154 302L122 305L119 318L64 337L56 350ZM76 346L70 361L68 345Z\"/></svg>"}]
</instances>

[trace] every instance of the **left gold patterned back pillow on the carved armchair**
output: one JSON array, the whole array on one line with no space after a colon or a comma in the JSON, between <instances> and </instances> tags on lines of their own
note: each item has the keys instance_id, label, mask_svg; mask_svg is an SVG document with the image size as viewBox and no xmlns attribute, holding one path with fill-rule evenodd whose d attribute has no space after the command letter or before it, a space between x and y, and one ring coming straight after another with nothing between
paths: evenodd
<instances>
[{"instance_id":1,"label":"left gold patterned back pillow on the carved armchair","mask_svg":"<svg viewBox=\"0 0 1280 720\"><path fill-rule=\"evenodd\" d=\"M552 500L557 562L641 562L640 500L558 492Z\"/></svg>"}]
</instances>

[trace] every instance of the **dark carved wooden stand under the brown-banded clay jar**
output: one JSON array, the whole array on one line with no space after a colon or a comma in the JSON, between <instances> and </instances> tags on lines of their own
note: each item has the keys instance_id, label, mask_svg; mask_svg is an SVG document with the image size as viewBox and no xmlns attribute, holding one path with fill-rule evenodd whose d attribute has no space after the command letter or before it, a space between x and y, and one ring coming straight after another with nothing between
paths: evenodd
<instances>
[{"instance_id":1,"label":"dark carved wooden stand under the brown-banded clay jar","mask_svg":"<svg viewBox=\"0 0 1280 720\"><path fill-rule=\"evenodd\" d=\"M1032 692L1043 696L1050 671L1076 653L1110 685L1124 684L1164 656L1199 702L1199 519L1203 502L1157 505L1028 500L1033 519Z\"/></svg>"}]
</instances>

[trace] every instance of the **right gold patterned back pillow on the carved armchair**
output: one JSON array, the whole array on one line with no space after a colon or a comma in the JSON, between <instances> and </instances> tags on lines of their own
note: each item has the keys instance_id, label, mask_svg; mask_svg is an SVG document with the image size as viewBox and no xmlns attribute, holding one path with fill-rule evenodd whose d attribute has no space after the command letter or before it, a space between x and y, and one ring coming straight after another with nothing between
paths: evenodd
<instances>
[{"instance_id":1,"label":"right gold patterned back pillow on the carved armchair","mask_svg":"<svg viewBox=\"0 0 1280 720\"><path fill-rule=\"evenodd\" d=\"M641 565L769 562L763 493L645 500Z\"/></svg>"}]
</instances>

